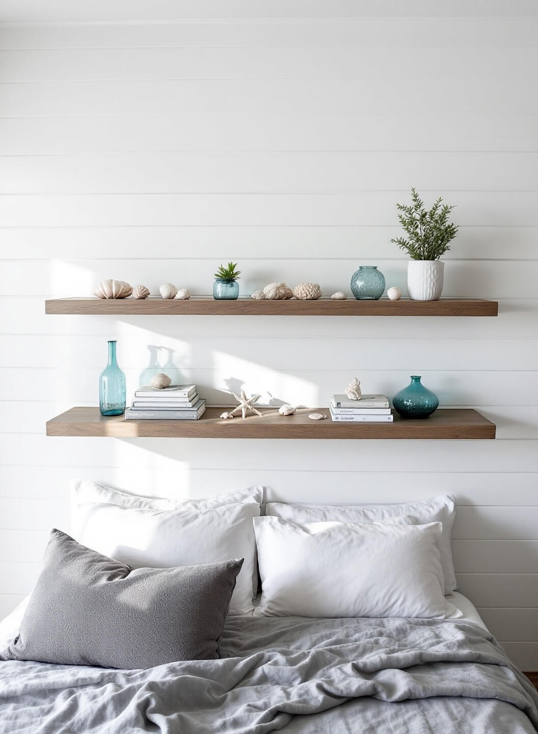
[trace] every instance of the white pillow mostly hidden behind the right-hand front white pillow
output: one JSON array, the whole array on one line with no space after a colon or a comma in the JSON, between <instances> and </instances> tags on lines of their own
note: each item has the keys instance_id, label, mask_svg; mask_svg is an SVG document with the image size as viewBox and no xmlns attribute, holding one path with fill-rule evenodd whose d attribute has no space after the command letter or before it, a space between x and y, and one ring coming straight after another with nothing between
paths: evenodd
<instances>
[{"instance_id":1,"label":"white pillow mostly hidden behind the right-hand front white pillow","mask_svg":"<svg viewBox=\"0 0 538 734\"><path fill-rule=\"evenodd\" d=\"M379 505L294 505L270 502L266 515L282 517L292 523L322 523L335 520L339 523L381 523L389 518L412 515L415 524L442 523L443 535L439 545L443 566L445 594L456 589L456 575L450 547L450 536L454 523L455 507L453 495L440 495L431 500L407 502L405 504ZM393 520L398 522L398 520Z\"/></svg>"}]
</instances>

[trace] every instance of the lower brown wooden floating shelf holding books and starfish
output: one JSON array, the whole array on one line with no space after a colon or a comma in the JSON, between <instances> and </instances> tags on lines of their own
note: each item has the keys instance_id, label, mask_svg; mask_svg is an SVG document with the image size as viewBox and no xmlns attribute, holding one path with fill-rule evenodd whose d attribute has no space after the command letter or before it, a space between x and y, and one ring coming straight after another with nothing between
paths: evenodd
<instances>
[{"instance_id":1,"label":"lower brown wooden floating shelf holding books and starfish","mask_svg":"<svg viewBox=\"0 0 538 734\"><path fill-rule=\"evenodd\" d=\"M219 418L224 408L208 408L198 421L126 421L123 415L105 418L96 407L75 407L47 421L48 436L112 436L117 438L495 438L495 424L469 408L440 409L423 421L394 416L393 423L333 423L327 408L300 408L283 416L277 408L262 408L263 416L244 420ZM312 421L309 413L324 413Z\"/></svg>"}]
</instances>

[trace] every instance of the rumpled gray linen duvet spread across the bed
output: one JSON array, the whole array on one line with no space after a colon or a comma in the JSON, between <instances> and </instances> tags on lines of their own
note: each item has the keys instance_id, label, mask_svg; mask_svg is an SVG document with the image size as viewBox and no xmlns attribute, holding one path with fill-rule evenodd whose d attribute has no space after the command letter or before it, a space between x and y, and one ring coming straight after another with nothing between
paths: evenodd
<instances>
[{"instance_id":1,"label":"rumpled gray linen duvet spread across the bed","mask_svg":"<svg viewBox=\"0 0 538 734\"><path fill-rule=\"evenodd\" d=\"M430 619L229 617L220 660L0 663L0 731L520 734L538 696L492 636Z\"/></svg>"}]
</instances>

